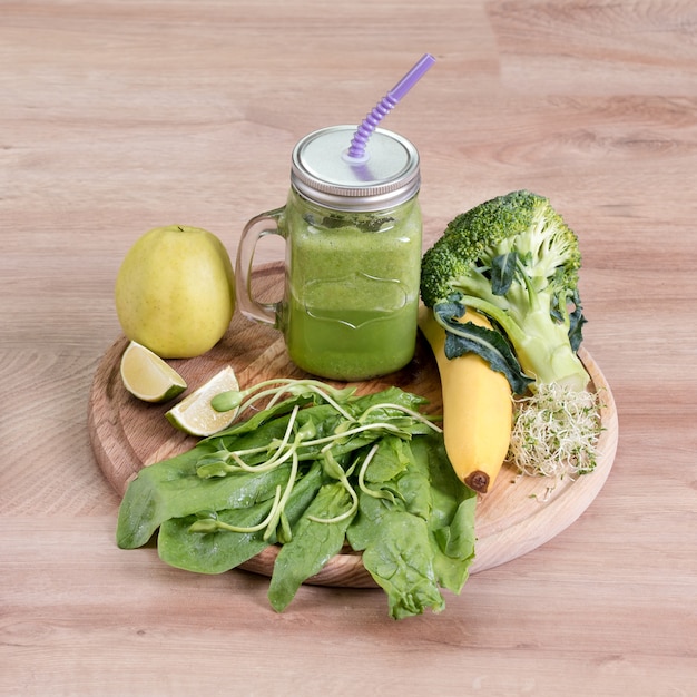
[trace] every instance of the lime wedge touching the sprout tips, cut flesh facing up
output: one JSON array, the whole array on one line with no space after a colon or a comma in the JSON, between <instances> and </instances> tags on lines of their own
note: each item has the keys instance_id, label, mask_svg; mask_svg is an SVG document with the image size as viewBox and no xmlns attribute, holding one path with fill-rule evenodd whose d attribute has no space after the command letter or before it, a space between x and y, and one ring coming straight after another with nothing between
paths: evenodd
<instances>
[{"instance_id":1,"label":"lime wedge touching the sprout tips, cut flesh facing up","mask_svg":"<svg viewBox=\"0 0 697 697\"><path fill-rule=\"evenodd\" d=\"M229 365L175 404L165 416L171 425L190 435L213 435L226 429L237 415L236 409L217 412L210 406L216 394L228 390L239 390L235 371Z\"/></svg>"}]
</instances>

